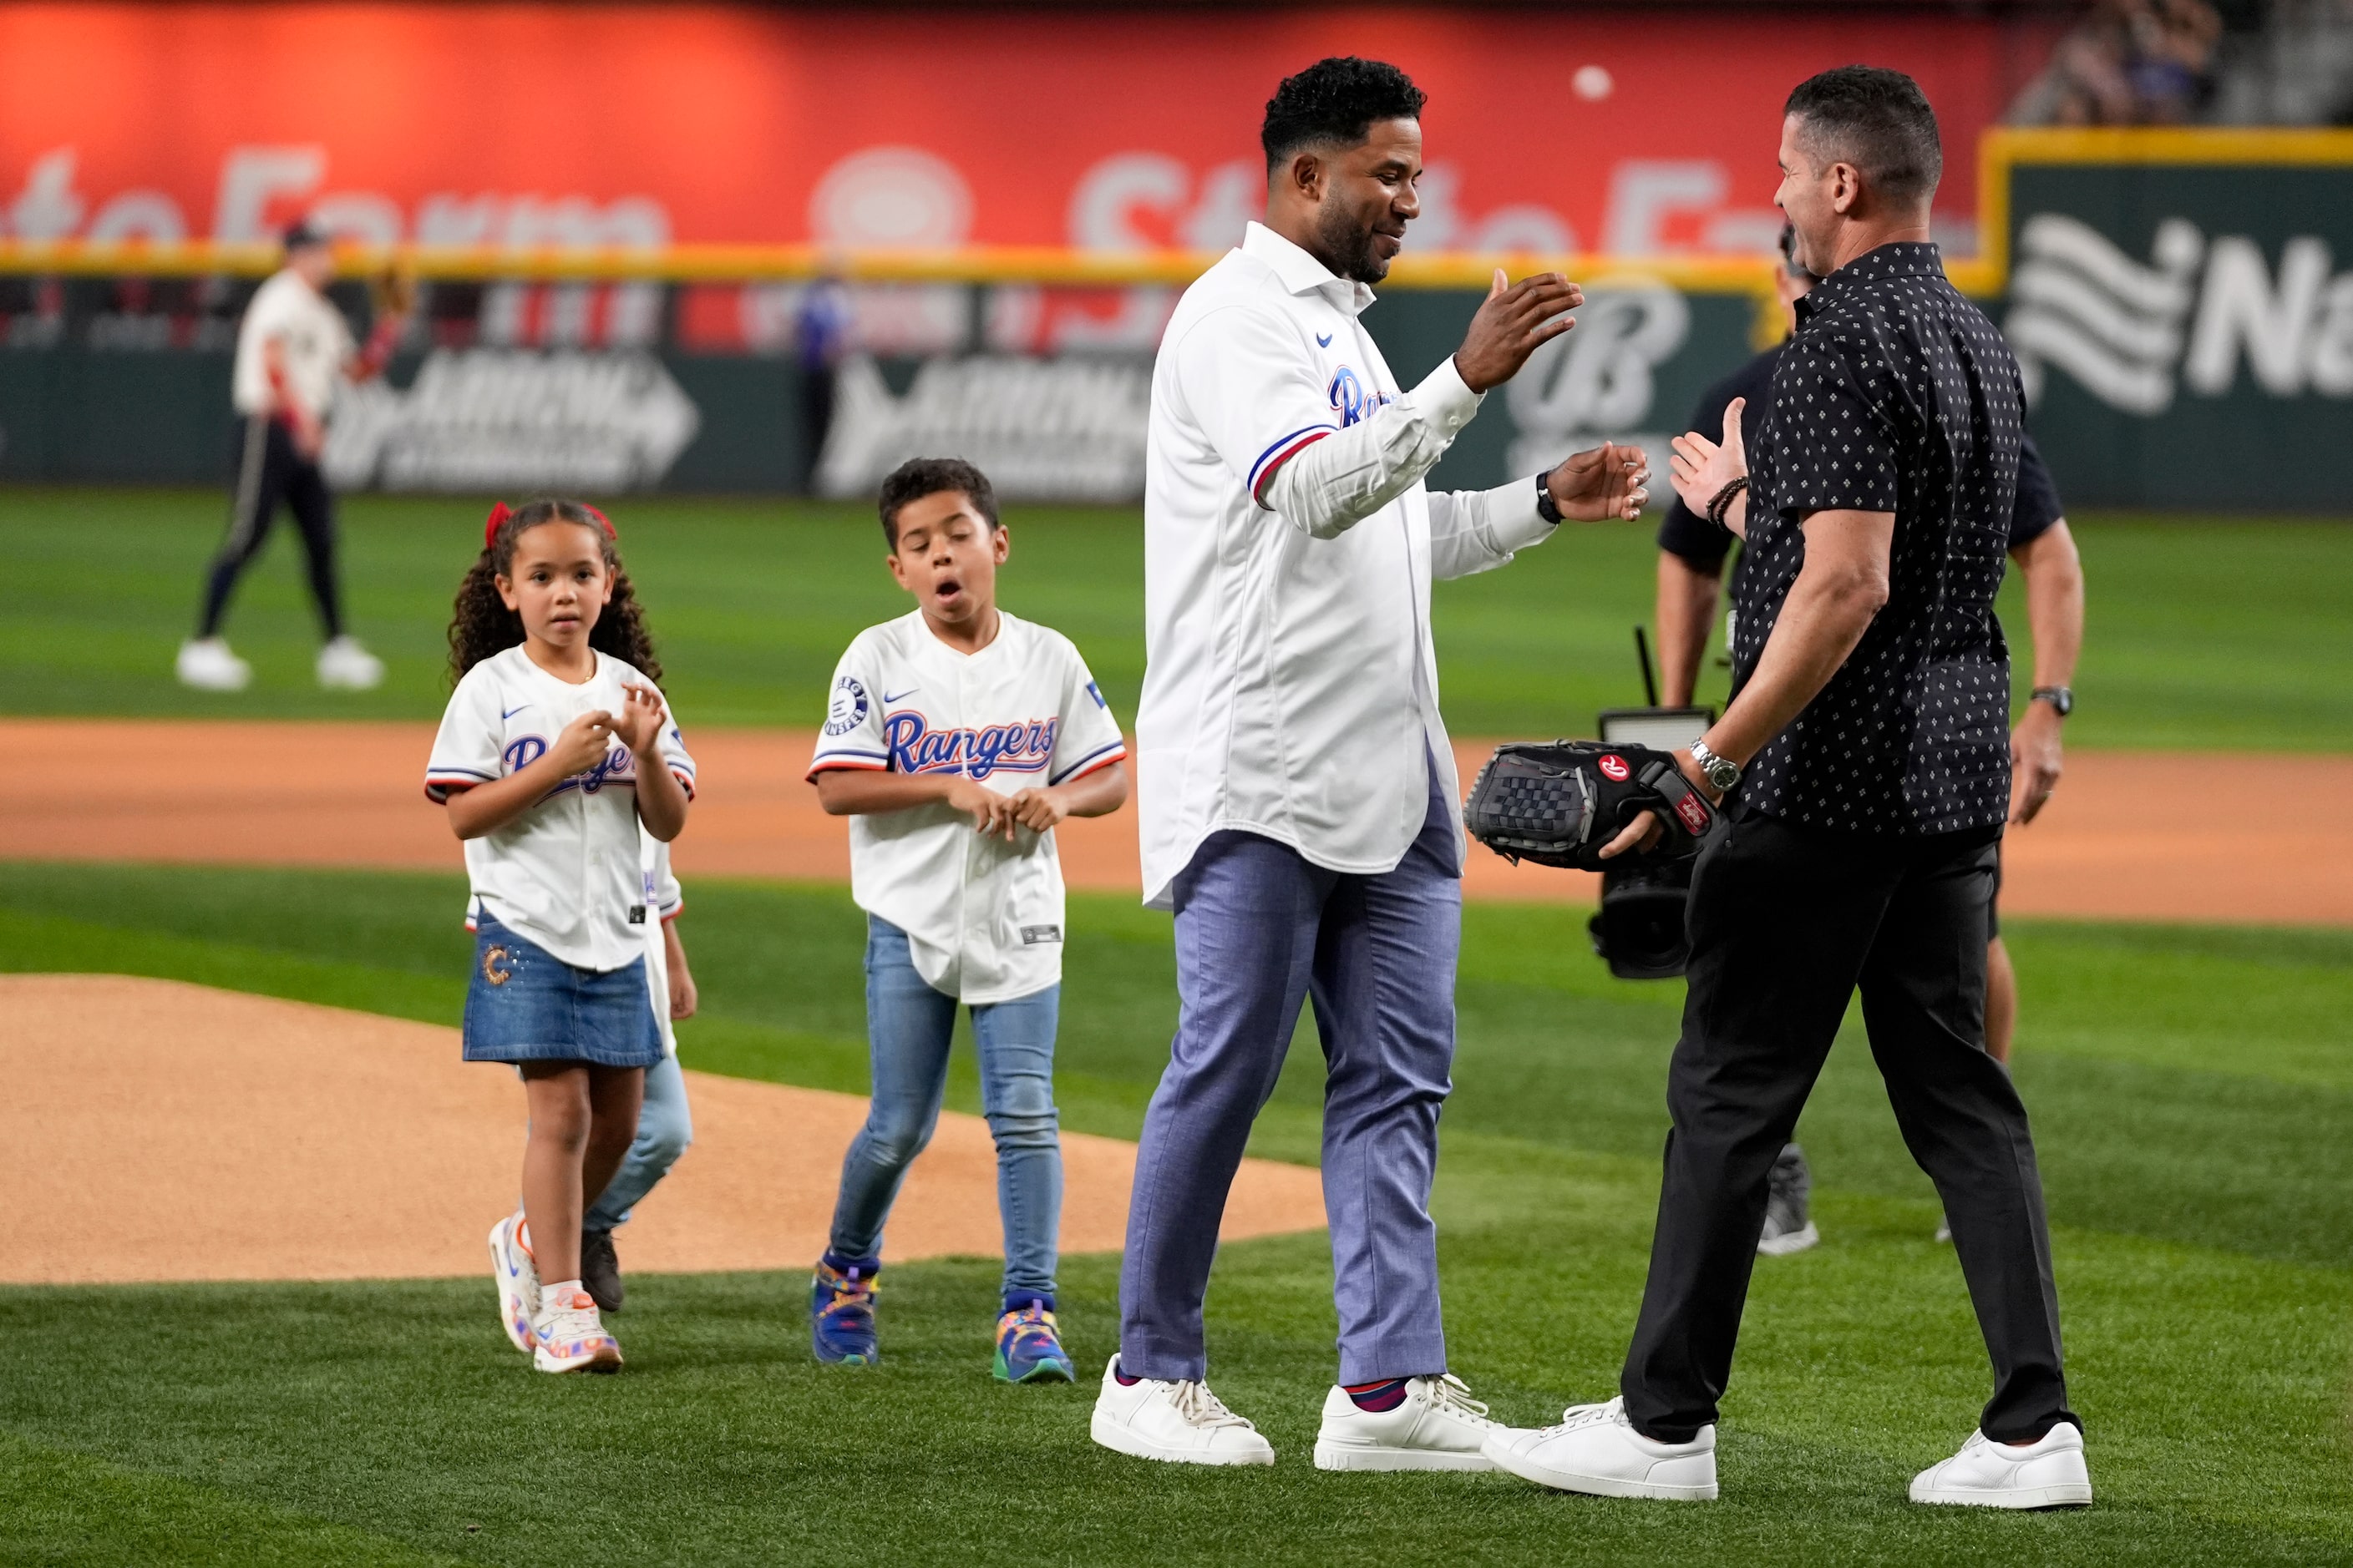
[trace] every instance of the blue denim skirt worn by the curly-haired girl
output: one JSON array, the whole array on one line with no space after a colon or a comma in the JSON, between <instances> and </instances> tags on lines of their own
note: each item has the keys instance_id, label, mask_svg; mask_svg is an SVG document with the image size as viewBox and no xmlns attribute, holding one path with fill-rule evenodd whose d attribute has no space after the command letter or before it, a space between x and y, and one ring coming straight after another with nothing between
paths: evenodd
<instances>
[{"instance_id":1,"label":"blue denim skirt worn by the curly-haired girl","mask_svg":"<svg viewBox=\"0 0 2353 1568\"><path fill-rule=\"evenodd\" d=\"M661 1060L661 1025L645 959L605 973L574 969L478 910L466 1060L652 1067Z\"/></svg>"}]
</instances>

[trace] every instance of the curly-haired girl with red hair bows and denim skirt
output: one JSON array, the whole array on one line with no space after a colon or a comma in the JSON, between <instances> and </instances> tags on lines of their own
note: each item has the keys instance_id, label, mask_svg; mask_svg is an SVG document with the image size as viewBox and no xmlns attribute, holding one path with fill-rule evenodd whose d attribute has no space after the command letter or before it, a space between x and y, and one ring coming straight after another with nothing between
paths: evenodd
<instances>
[{"instance_id":1,"label":"curly-haired girl with red hair bows and denim skirt","mask_svg":"<svg viewBox=\"0 0 2353 1568\"><path fill-rule=\"evenodd\" d=\"M694 792L614 543L574 501L492 510L426 766L473 886L466 1060L513 1063L529 1110L522 1208L489 1253L499 1319L544 1373L621 1366L581 1288L581 1206L621 1164L664 1058L638 830L675 839Z\"/></svg>"}]
</instances>

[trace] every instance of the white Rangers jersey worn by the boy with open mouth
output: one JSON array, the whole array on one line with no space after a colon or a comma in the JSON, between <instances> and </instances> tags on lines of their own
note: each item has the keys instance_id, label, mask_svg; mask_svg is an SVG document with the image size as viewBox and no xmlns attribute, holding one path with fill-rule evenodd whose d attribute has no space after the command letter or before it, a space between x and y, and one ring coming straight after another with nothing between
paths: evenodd
<instances>
[{"instance_id":1,"label":"white Rangers jersey worn by the boy with open mouth","mask_svg":"<svg viewBox=\"0 0 2353 1568\"><path fill-rule=\"evenodd\" d=\"M833 670L826 769L962 773L1016 795L1127 757L1087 661L1061 632L998 611L998 637L958 654L922 611L871 625ZM1052 832L981 837L946 804L849 818L849 893L908 936L925 985L974 1006L1061 980L1064 893Z\"/></svg>"}]
</instances>

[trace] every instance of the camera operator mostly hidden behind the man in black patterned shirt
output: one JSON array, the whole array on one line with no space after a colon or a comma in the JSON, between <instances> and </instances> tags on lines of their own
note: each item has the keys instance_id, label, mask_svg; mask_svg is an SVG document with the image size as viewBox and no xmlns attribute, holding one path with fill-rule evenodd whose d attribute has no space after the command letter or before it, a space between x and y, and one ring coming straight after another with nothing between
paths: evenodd
<instances>
[{"instance_id":1,"label":"camera operator mostly hidden behind the man in black patterned shirt","mask_svg":"<svg viewBox=\"0 0 2353 1568\"><path fill-rule=\"evenodd\" d=\"M1781 226L1781 268L1774 292L1795 329L1795 306L1819 277L1791 254L1795 230ZM1692 409L1689 430L1722 430L1725 409L1741 400L1741 437L1753 449L1765 407L1772 402L1772 369L1784 343L1774 343L1748 364L1711 386ZM1732 529L1708 522L1678 496L1659 522L1659 668L1666 677L1664 701L1685 708L1699 686L1699 661L1715 621L1718 583L1732 550ZM2075 654L2082 646L2082 562L2075 536L2059 512L2059 489L2052 484L2033 437L2019 447L2019 496L2009 512L2009 559L2026 574L2026 623L2035 642L2035 686L2026 712L2009 731L2009 825L2024 827L2042 811L2059 783L2059 722L2075 705L2068 682L2075 677ZM1739 571L1739 567L1734 567ZM1729 632L1725 637L1732 642ZM2009 1037L2019 1018L2019 978L2002 947L2000 922L1986 947L1986 1051L1998 1063L2009 1060ZM1772 1197L1765 1206L1765 1234L1758 1251L1769 1255L1802 1253L1821 1239L1809 1213L1812 1171L1795 1143L1781 1150L1772 1168ZM1939 1227L1939 1241L1951 1232Z\"/></svg>"}]
</instances>

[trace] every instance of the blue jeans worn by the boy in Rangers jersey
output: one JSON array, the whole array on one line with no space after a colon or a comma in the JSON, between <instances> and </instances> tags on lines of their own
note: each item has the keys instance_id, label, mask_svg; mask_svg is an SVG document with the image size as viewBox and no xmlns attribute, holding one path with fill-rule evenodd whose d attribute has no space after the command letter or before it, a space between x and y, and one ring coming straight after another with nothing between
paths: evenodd
<instances>
[{"instance_id":1,"label":"blue jeans worn by the boy in Rangers jersey","mask_svg":"<svg viewBox=\"0 0 2353 1568\"><path fill-rule=\"evenodd\" d=\"M1061 987L972 1009L981 1056L981 1114L998 1140L998 1215L1005 1222L1007 1300L1054 1295L1061 1229L1061 1121L1054 1112L1054 1023ZM922 983L906 931L866 917L866 1039L875 1095L842 1157L831 1253L880 1260L908 1164L932 1143L948 1091L955 997Z\"/></svg>"}]
</instances>

